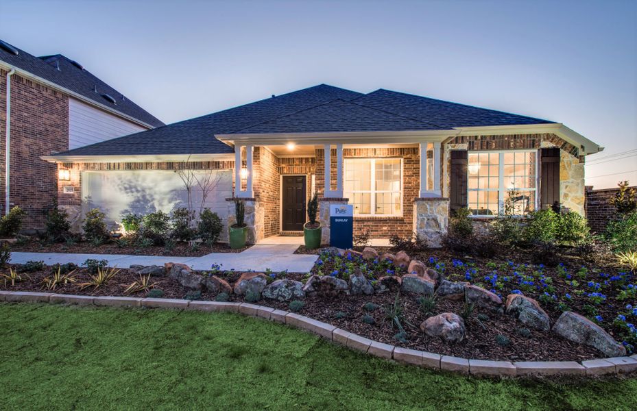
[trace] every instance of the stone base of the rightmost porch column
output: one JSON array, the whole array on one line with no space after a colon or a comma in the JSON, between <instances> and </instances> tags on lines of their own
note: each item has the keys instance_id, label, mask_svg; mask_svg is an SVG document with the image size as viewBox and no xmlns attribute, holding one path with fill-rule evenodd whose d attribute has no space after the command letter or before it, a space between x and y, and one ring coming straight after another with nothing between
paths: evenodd
<instances>
[{"instance_id":1,"label":"stone base of the rightmost porch column","mask_svg":"<svg viewBox=\"0 0 637 411\"><path fill-rule=\"evenodd\" d=\"M449 225L449 199L424 197L413 201L413 232L431 247L442 247Z\"/></svg>"}]
</instances>

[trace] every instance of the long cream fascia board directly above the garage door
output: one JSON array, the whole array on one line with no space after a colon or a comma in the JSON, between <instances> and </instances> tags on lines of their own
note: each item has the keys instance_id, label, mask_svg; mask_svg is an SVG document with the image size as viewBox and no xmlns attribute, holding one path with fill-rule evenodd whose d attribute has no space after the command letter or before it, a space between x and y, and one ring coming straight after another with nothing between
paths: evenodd
<instances>
[{"instance_id":1,"label":"long cream fascia board directly above the garage door","mask_svg":"<svg viewBox=\"0 0 637 411\"><path fill-rule=\"evenodd\" d=\"M60 163L104 162L198 162L234 161L230 154L157 154L157 155L43 155L42 160Z\"/></svg>"}]
</instances>

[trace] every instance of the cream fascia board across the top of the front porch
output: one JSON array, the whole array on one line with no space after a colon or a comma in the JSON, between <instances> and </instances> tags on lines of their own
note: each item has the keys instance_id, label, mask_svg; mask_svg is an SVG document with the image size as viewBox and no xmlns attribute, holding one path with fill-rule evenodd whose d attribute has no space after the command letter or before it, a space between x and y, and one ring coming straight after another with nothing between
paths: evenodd
<instances>
[{"instance_id":1,"label":"cream fascia board across the top of the front porch","mask_svg":"<svg viewBox=\"0 0 637 411\"><path fill-rule=\"evenodd\" d=\"M267 133L267 134L217 134L218 140L238 145L296 145L322 144L391 144L409 142L434 142L457 135L456 130L431 130L410 132L339 132L339 133Z\"/></svg>"}]
</instances>

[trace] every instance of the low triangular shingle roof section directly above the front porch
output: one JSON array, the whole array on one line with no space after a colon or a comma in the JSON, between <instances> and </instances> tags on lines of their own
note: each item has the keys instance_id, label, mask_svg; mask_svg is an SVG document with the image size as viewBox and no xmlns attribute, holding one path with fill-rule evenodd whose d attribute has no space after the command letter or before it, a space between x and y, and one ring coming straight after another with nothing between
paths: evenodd
<instances>
[{"instance_id":1,"label":"low triangular shingle roof section directly above the front porch","mask_svg":"<svg viewBox=\"0 0 637 411\"><path fill-rule=\"evenodd\" d=\"M242 129L237 134L441 129L444 128L338 99Z\"/></svg>"}]
</instances>

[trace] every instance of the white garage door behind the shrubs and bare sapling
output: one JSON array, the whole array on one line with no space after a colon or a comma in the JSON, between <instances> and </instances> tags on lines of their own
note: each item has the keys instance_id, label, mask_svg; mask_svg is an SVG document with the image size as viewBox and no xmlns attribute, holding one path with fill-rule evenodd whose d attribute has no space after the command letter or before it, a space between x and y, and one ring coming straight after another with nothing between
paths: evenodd
<instances>
[{"instance_id":1,"label":"white garage door behind the shrubs and bare sapling","mask_svg":"<svg viewBox=\"0 0 637 411\"><path fill-rule=\"evenodd\" d=\"M226 198L232 197L232 171L196 171L200 181L208 174L215 188L208 194L204 208L210 208L226 220ZM193 186L193 209L198 210L202 190ZM174 171L84 171L82 173L82 212L101 209L111 222L121 221L129 212L148 214L162 210L171 212L186 207L187 190Z\"/></svg>"}]
</instances>

